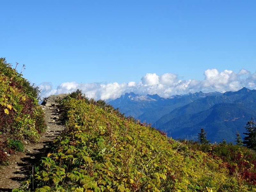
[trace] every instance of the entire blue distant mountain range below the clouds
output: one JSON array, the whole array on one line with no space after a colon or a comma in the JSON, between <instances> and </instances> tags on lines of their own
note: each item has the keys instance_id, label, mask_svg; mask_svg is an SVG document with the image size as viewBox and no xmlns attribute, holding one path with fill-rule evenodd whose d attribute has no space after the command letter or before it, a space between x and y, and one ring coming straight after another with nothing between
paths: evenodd
<instances>
[{"instance_id":1,"label":"entire blue distant mountain range below the clouds","mask_svg":"<svg viewBox=\"0 0 256 192\"><path fill-rule=\"evenodd\" d=\"M236 131L243 137L246 123L256 117L256 90L245 87L237 92L196 92L167 99L131 92L108 103L172 138L197 140L203 128L212 143L223 139L234 143Z\"/></svg>"}]
</instances>

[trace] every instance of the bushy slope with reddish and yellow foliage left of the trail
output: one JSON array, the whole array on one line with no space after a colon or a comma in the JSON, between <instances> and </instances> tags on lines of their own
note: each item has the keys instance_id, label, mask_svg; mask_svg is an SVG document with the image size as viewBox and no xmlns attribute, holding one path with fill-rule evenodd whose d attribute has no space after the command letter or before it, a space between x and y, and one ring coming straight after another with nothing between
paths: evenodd
<instances>
[{"instance_id":1,"label":"bushy slope with reddish and yellow foliage left of the trail","mask_svg":"<svg viewBox=\"0 0 256 192\"><path fill-rule=\"evenodd\" d=\"M44 114L37 101L39 92L0 58L0 164L8 164L7 154L23 150L21 141L36 142L44 131Z\"/></svg>"}]
</instances>

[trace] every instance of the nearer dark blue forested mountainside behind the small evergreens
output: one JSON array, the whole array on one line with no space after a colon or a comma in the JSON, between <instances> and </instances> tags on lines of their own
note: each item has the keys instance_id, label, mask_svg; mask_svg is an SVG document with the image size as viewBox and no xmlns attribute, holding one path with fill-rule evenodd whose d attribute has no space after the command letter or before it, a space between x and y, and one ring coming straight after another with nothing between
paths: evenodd
<instances>
[{"instance_id":1,"label":"nearer dark blue forested mountainside behind the small evergreens","mask_svg":"<svg viewBox=\"0 0 256 192\"><path fill-rule=\"evenodd\" d=\"M222 96L208 96L174 109L156 121L156 128L173 138L193 140L203 128L212 142L234 141L236 131L245 132L245 124L256 115L255 100L256 90L246 88Z\"/></svg>"}]
</instances>

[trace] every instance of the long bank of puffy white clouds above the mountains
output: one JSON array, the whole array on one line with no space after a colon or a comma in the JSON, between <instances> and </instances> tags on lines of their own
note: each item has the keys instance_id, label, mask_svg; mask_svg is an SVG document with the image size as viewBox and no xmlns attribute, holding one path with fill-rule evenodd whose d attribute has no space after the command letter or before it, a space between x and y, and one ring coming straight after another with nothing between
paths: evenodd
<instances>
[{"instance_id":1,"label":"long bank of puffy white clouds above the mountains","mask_svg":"<svg viewBox=\"0 0 256 192\"><path fill-rule=\"evenodd\" d=\"M44 82L38 87L42 90L41 98L82 89L86 97L96 100L116 99L125 92L134 92L140 95L158 94L168 98L172 95L189 92L238 91L242 87L256 89L256 72L252 74L245 69L241 69L239 73L230 70L219 72L217 69L207 69L204 71L204 76L204 80L181 80L177 74L165 73L158 76L156 73L147 73L138 83L134 81L108 84L66 82L60 84L57 89L52 89L51 83Z\"/></svg>"}]
</instances>

